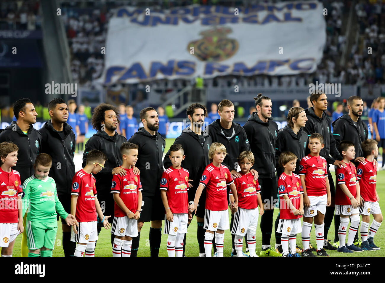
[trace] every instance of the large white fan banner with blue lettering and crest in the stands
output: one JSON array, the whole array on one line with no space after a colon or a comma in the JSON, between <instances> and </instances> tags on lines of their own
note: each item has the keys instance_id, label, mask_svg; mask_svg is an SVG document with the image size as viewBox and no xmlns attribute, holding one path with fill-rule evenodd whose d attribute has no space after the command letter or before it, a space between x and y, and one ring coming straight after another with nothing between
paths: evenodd
<instances>
[{"instance_id":1,"label":"large white fan banner with blue lettering and crest in the stands","mask_svg":"<svg viewBox=\"0 0 385 283\"><path fill-rule=\"evenodd\" d=\"M99 81L314 72L325 42L318 1L158 11L124 7L110 19Z\"/></svg>"}]
</instances>

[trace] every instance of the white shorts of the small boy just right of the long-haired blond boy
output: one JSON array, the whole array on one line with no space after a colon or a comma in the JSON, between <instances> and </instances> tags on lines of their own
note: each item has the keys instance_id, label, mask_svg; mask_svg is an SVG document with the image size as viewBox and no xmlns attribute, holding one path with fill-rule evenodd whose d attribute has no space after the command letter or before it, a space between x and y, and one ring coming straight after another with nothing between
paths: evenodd
<instances>
[{"instance_id":1,"label":"white shorts of the small boy just right of the long-haired blond boy","mask_svg":"<svg viewBox=\"0 0 385 283\"><path fill-rule=\"evenodd\" d=\"M238 208L236 213L234 213L234 225L231 229L231 234L245 236L255 235L255 230L257 229L258 224L259 209L244 209Z\"/></svg>"}]
</instances>

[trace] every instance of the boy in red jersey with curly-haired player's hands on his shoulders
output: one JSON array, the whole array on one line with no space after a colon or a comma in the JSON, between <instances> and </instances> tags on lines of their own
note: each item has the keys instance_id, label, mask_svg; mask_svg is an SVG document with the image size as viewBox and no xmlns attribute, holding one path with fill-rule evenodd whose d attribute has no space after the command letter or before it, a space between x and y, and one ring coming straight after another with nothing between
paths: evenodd
<instances>
[{"instance_id":1,"label":"boy in red jersey with curly-haired player's hands on his shoulders","mask_svg":"<svg viewBox=\"0 0 385 283\"><path fill-rule=\"evenodd\" d=\"M126 175L114 174L111 193L114 194L114 221L111 233L115 235L112 256L131 256L132 237L138 235L138 219L142 209L142 184L134 175L132 166L138 160L138 146L123 142L121 154Z\"/></svg>"}]
</instances>

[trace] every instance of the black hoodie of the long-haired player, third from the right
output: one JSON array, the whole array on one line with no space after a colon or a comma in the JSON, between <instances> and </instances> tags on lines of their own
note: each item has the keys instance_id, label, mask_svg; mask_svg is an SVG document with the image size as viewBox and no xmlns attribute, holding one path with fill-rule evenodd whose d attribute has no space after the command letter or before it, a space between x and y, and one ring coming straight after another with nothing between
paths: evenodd
<instances>
[{"instance_id":1,"label":"black hoodie of the long-haired player, third from the right","mask_svg":"<svg viewBox=\"0 0 385 283\"><path fill-rule=\"evenodd\" d=\"M289 125L278 131L277 141L275 143L275 161L277 167L277 177L283 173L283 167L278 164L278 158L284 151L293 152L297 156L297 167L294 173L298 174L300 171L300 161L305 156L306 144L308 143L308 134L300 128L298 134L293 132Z\"/></svg>"}]
</instances>

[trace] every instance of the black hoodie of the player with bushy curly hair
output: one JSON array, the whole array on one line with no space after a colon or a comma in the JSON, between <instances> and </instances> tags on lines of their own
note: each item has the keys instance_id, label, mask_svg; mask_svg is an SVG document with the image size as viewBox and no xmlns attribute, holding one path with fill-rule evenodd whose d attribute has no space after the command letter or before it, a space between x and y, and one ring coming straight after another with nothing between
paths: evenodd
<instances>
[{"instance_id":1,"label":"black hoodie of the player with bushy curly hair","mask_svg":"<svg viewBox=\"0 0 385 283\"><path fill-rule=\"evenodd\" d=\"M103 170L94 175L96 180L95 186L98 194L110 196L113 176L112 169L121 166L123 162L122 155L120 153L120 147L123 142L127 142L127 139L124 136L119 135L116 131L112 137L110 137L105 131L97 131L85 143L82 164L83 168L87 161L87 154L92 149L102 151L107 157Z\"/></svg>"}]
</instances>

